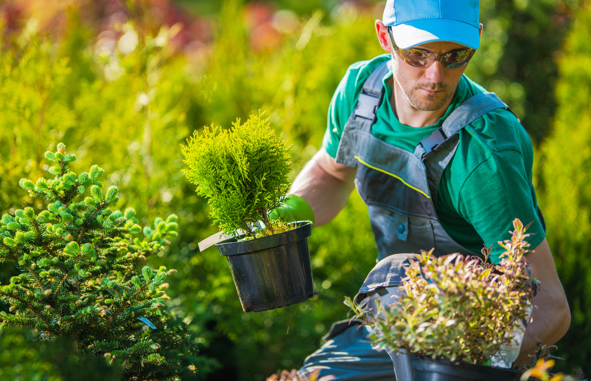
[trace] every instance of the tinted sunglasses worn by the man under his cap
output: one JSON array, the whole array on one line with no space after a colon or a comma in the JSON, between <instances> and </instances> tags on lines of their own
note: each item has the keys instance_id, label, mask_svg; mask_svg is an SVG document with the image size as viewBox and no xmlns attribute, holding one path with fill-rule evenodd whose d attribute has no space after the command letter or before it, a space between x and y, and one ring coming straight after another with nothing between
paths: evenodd
<instances>
[{"instance_id":1,"label":"tinted sunglasses worn by the man under his cap","mask_svg":"<svg viewBox=\"0 0 591 381\"><path fill-rule=\"evenodd\" d=\"M397 47L394 42L392 27L388 27L388 33L390 35L390 40L392 40L392 46L394 46L394 50L398 54L398 57L402 58L405 63L414 67L429 67L434 62L439 61L446 69L456 69L456 67L467 64L476 51L476 49L468 48L465 50L449 51L446 54L437 56L437 54L423 49L401 49Z\"/></svg>"}]
</instances>

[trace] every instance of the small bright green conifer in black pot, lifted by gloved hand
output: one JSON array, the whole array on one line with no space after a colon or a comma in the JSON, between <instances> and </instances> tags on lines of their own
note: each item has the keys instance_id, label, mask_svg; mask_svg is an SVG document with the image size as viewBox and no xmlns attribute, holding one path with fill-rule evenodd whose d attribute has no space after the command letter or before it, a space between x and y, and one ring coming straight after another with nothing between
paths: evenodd
<instances>
[{"instance_id":1,"label":"small bright green conifer in black pot, lifted by gloved hand","mask_svg":"<svg viewBox=\"0 0 591 381\"><path fill-rule=\"evenodd\" d=\"M287 199L290 147L261 115L232 124L194 132L182 148L185 174L208 198L213 222L230 237L217 248L228 259L243 310L302 302L314 296L311 222L269 219Z\"/></svg>"}]
</instances>

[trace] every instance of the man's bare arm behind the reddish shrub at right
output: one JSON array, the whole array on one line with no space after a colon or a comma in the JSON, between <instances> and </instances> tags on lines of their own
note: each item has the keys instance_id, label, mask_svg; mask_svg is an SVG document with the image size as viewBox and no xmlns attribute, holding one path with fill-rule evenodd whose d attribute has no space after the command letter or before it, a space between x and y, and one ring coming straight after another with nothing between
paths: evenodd
<instances>
[{"instance_id":1,"label":"man's bare arm behind the reddish shrub at right","mask_svg":"<svg viewBox=\"0 0 591 381\"><path fill-rule=\"evenodd\" d=\"M540 280L540 291L534 298L533 322L527 325L519 357L514 365L527 362L528 354L537 349L537 339L551 345L564 336L570 326L570 309L558 279L550 246L544 239L535 251L528 253L531 276Z\"/></svg>"}]
</instances>

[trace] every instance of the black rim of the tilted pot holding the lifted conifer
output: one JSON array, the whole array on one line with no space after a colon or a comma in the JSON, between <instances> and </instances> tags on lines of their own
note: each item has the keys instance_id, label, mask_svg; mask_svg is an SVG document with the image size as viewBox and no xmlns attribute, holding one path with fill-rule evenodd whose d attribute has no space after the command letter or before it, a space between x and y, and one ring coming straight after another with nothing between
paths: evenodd
<instances>
[{"instance_id":1,"label":"black rim of the tilted pot holding the lifted conifer","mask_svg":"<svg viewBox=\"0 0 591 381\"><path fill-rule=\"evenodd\" d=\"M222 256L251 254L261 250L277 248L278 246L288 245L290 243L305 239L312 233L311 221L294 221L289 224L296 224L295 229L274 235L259 237L248 241L238 242L236 238L229 238L220 243L216 243L217 249ZM244 237L241 235L238 238Z\"/></svg>"}]
</instances>

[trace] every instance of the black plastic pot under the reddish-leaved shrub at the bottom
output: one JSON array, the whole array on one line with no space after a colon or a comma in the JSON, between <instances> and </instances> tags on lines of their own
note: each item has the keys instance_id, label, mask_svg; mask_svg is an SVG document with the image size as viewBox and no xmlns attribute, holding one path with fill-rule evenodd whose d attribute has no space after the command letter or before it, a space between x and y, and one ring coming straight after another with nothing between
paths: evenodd
<instances>
[{"instance_id":1,"label":"black plastic pot under the reddish-leaved shrub at the bottom","mask_svg":"<svg viewBox=\"0 0 591 381\"><path fill-rule=\"evenodd\" d=\"M519 381L518 370L410 355L414 381Z\"/></svg>"}]
</instances>

